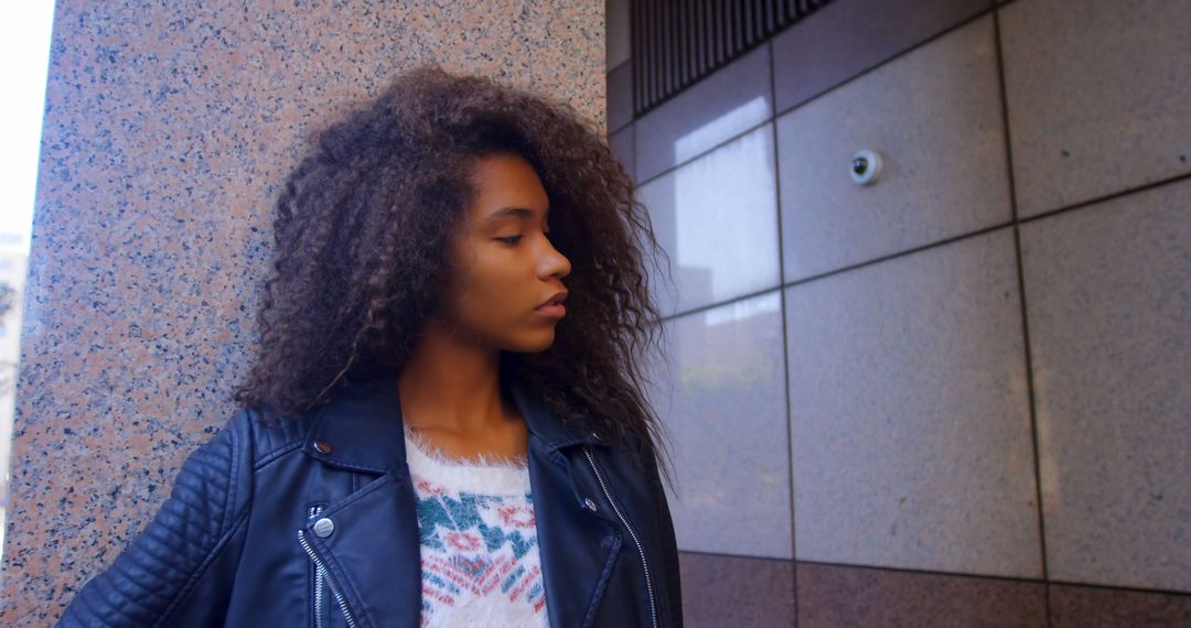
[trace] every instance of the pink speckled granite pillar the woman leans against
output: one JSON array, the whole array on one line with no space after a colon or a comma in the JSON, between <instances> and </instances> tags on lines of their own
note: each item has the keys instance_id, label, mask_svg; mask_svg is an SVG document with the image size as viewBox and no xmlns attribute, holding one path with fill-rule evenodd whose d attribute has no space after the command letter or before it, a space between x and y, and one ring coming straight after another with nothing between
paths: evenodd
<instances>
[{"instance_id":1,"label":"pink speckled granite pillar the woman leans against","mask_svg":"<svg viewBox=\"0 0 1191 628\"><path fill-rule=\"evenodd\" d=\"M58 1L0 624L111 563L249 364L276 186L307 134L438 62L604 126L604 2Z\"/></svg>"}]
</instances>

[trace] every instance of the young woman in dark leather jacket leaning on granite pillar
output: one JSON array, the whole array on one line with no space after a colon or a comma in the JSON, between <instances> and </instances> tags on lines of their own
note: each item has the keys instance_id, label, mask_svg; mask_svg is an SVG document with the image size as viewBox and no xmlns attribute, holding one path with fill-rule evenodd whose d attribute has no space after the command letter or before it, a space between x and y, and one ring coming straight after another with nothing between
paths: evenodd
<instances>
[{"instance_id":1,"label":"young woman in dark leather jacket leaning on granite pillar","mask_svg":"<svg viewBox=\"0 0 1191 628\"><path fill-rule=\"evenodd\" d=\"M591 126L420 68L274 231L241 409L62 626L681 626L656 241Z\"/></svg>"}]
</instances>

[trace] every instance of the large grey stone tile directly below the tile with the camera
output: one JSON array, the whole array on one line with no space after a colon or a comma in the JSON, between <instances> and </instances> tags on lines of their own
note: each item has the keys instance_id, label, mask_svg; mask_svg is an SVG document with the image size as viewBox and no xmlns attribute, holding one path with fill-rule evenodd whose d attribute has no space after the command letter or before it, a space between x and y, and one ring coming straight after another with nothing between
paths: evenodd
<instances>
[{"instance_id":1,"label":"large grey stone tile directly below the tile with the camera","mask_svg":"<svg viewBox=\"0 0 1191 628\"><path fill-rule=\"evenodd\" d=\"M786 293L800 560L1040 577L1012 232Z\"/></svg>"}]
</instances>

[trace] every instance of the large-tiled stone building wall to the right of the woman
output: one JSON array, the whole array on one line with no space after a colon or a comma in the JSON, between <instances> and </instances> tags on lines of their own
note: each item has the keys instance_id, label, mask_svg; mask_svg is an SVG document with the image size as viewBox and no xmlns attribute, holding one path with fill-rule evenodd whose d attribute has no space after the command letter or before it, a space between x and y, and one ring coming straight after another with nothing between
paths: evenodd
<instances>
[{"instance_id":1,"label":"large-tiled stone building wall to the right of the woman","mask_svg":"<svg viewBox=\"0 0 1191 628\"><path fill-rule=\"evenodd\" d=\"M1191 623L1189 32L835 0L636 120L610 69L690 626Z\"/></svg>"}]
</instances>

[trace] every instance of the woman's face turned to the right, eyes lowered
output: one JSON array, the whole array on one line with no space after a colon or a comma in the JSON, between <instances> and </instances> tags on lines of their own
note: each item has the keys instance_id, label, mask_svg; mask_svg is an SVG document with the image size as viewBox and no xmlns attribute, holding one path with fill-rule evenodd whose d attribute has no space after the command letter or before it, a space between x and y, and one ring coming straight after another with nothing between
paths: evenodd
<instances>
[{"instance_id":1,"label":"woman's face turned to the right, eyes lowered","mask_svg":"<svg viewBox=\"0 0 1191 628\"><path fill-rule=\"evenodd\" d=\"M484 348L544 351L566 315L562 278L570 272L548 237L550 200L534 167L513 153L478 159L472 186L475 201L450 252L447 327Z\"/></svg>"}]
</instances>

